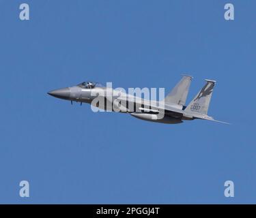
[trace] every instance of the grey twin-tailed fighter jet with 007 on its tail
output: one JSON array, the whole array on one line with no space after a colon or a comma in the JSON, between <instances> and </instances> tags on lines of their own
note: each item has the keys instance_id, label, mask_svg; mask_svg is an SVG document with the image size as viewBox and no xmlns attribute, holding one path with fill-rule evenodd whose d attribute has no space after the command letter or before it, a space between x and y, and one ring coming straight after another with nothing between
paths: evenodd
<instances>
[{"instance_id":1,"label":"grey twin-tailed fighter jet with 007 on its tail","mask_svg":"<svg viewBox=\"0 0 256 218\"><path fill-rule=\"evenodd\" d=\"M91 104L106 111L123 112L137 119L158 123L183 123L194 119L216 121L208 116L208 108L216 81L205 80L203 88L185 106L192 76L184 75L173 90L160 101L143 99L122 91L104 87L98 82L82 82L73 87L56 89L49 95L81 104ZM102 103L103 102L103 103ZM118 109L118 110L117 110ZM226 123L223 121L216 121Z\"/></svg>"}]
</instances>

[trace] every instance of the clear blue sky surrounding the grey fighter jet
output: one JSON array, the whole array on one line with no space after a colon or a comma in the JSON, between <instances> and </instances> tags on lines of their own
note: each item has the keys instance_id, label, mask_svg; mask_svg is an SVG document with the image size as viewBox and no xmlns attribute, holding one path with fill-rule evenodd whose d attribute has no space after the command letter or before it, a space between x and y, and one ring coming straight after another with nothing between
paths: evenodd
<instances>
[{"instance_id":1,"label":"clear blue sky surrounding the grey fighter jet","mask_svg":"<svg viewBox=\"0 0 256 218\"><path fill-rule=\"evenodd\" d=\"M0 8L0 203L256 203L254 0ZM217 80L208 112L232 125L151 123L46 94L84 80L169 91L182 73L194 76L187 103ZM22 180L30 198L19 196Z\"/></svg>"}]
</instances>

